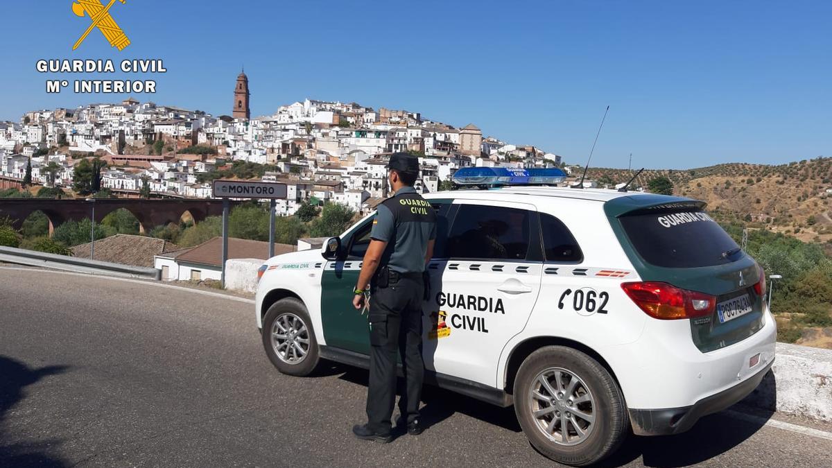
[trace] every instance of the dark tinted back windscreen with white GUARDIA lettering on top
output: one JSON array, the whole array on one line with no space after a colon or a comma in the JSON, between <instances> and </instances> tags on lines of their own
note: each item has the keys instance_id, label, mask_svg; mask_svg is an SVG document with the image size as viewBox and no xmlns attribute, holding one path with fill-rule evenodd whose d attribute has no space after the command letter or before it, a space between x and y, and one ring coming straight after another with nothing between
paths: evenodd
<instances>
[{"instance_id":1,"label":"dark tinted back windscreen with white GUARDIA lettering on top","mask_svg":"<svg viewBox=\"0 0 832 468\"><path fill-rule=\"evenodd\" d=\"M619 220L641 258L655 266L715 266L739 258L740 246L701 209L641 210Z\"/></svg>"}]
</instances>

